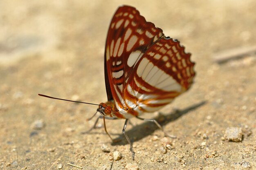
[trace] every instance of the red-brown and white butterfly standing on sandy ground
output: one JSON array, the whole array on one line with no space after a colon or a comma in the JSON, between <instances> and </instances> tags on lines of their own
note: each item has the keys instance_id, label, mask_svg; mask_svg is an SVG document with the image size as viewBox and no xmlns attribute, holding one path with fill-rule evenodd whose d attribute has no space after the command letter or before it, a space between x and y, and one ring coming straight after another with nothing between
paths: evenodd
<instances>
[{"instance_id":1,"label":"red-brown and white butterfly standing on sandy ground","mask_svg":"<svg viewBox=\"0 0 256 170\"><path fill-rule=\"evenodd\" d=\"M104 57L108 101L99 104L97 112L102 115L107 134L105 118L126 119L123 133L133 160L134 151L125 131L128 120L137 117L153 121L162 129L154 119L140 116L159 110L190 88L195 76L195 63L190 57L179 41L166 37L162 29L146 22L134 7L124 5L115 12Z\"/></svg>"}]
</instances>

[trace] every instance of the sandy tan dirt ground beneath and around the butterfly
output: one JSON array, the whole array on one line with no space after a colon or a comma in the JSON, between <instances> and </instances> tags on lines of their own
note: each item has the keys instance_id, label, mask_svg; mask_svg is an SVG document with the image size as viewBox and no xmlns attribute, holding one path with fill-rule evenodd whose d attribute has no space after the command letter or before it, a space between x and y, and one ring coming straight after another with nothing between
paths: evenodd
<instances>
[{"instance_id":1,"label":"sandy tan dirt ground beneath and around the butterfly","mask_svg":"<svg viewBox=\"0 0 256 170\"><path fill-rule=\"evenodd\" d=\"M124 120L106 121L112 137L121 139L112 143L103 128L84 133L97 106L37 95L106 102L106 33L121 4L180 40L197 73L187 93L144 116L177 139L131 119L135 161L122 134ZM255 9L254 0L1 0L0 169L79 170L66 163L83 170L256 169L256 56L213 60L217 52L255 45ZM242 138L225 140L229 130ZM113 161L113 151L123 157Z\"/></svg>"}]
</instances>

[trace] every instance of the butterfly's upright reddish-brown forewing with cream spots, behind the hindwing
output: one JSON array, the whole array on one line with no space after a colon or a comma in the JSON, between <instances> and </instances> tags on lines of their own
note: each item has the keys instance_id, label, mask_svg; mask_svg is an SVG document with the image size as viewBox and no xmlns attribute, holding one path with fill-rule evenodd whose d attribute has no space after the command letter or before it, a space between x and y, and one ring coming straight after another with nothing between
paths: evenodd
<instances>
[{"instance_id":1,"label":"butterfly's upright reddish-brown forewing with cream spots, behind the hindwing","mask_svg":"<svg viewBox=\"0 0 256 170\"><path fill-rule=\"evenodd\" d=\"M117 108L124 107L124 88L128 77L141 56L163 31L139 15L133 7L119 7L112 18L105 51L105 82L108 100L114 99Z\"/></svg>"}]
</instances>

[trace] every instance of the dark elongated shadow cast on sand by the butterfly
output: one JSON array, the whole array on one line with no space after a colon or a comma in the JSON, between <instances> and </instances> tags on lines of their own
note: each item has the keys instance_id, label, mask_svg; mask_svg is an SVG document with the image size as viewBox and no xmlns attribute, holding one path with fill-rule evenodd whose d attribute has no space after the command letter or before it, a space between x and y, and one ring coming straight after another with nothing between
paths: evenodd
<instances>
[{"instance_id":1,"label":"dark elongated shadow cast on sand by the butterfly","mask_svg":"<svg viewBox=\"0 0 256 170\"><path fill-rule=\"evenodd\" d=\"M157 117L154 117L153 119L155 119L161 126L164 126L164 125L168 124L169 122L175 121L179 117L189 113L190 111L203 106L206 103L207 103L207 101L202 101L198 104L189 106L183 110L172 111L168 115L159 114ZM158 129L159 128L157 127L156 124L154 124L154 122L144 121L144 123L142 123L142 124L132 126L132 128L130 130L126 130L126 133L127 133L128 137L130 137L131 142L133 143L135 141L139 141L139 140L143 139L144 137L147 137L148 135L153 134L153 132L155 132L155 130L158 130ZM115 138L114 140L119 141L119 142L112 142L111 143L112 146L128 144L128 141L124 137L123 133L120 133L118 135L119 136L117 138Z\"/></svg>"}]
</instances>

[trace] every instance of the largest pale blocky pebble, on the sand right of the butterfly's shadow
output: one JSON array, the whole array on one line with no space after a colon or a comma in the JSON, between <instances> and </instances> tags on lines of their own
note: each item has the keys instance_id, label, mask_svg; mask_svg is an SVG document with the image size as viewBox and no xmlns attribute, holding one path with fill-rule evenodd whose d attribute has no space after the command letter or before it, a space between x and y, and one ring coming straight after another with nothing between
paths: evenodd
<instances>
[{"instance_id":1,"label":"largest pale blocky pebble, on the sand right of the butterfly's shadow","mask_svg":"<svg viewBox=\"0 0 256 170\"><path fill-rule=\"evenodd\" d=\"M224 137L228 141L239 142L242 141L243 133L242 128L231 127L225 130Z\"/></svg>"}]
</instances>

